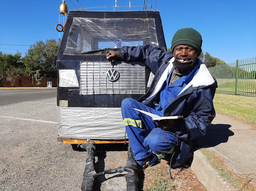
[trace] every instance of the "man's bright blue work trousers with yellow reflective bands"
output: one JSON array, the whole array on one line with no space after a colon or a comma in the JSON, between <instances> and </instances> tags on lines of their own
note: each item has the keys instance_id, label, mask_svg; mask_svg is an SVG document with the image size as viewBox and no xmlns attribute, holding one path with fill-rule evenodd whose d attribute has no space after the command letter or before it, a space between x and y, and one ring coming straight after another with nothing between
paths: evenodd
<instances>
[{"instance_id":1,"label":"man's bright blue work trousers with yellow reflective bands","mask_svg":"<svg viewBox=\"0 0 256 191\"><path fill-rule=\"evenodd\" d=\"M158 158L169 157L165 156L165 153L174 152L174 146L177 143L175 135L162 130L150 116L133 108L156 115L159 113L132 98L123 100L121 111L134 159L145 159L152 155L152 151ZM149 133L148 136L146 136L147 133Z\"/></svg>"}]
</instances>

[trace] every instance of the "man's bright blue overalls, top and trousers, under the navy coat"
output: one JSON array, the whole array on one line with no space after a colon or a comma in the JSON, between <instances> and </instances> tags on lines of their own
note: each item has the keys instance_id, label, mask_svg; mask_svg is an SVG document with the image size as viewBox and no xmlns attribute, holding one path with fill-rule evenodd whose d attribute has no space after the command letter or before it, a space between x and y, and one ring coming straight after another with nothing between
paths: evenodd
<instances>
[{"instance_id":1,"label":"man's bright blue overalls, top and trousers, under the navy coat","mask_svg":"<svg viewBox=\"0 0 256 191\"><path fill-rule=\"evenodd\" d=\"M177 143L176 136L172 132L162 130L150 116L133 109L136 108L163 116L164 109L180 93L183 86L185 86L184 84L175 87L175 84L180 85L185 77L181 77L170 86L167 86L171 73L160 90L161 101L155 105L155 108L147 107L131 98L127 98L122 102L122 116L135 160L142 160L149 157L152 155L152 151L158 158L169 160L171 157L170 154L174 152L174 147ZM175 88L173 89L173 87ZM172 89L174 90L173 92ZM148 135L146 136L146 134Z\"/></svg>"}]
</instances>

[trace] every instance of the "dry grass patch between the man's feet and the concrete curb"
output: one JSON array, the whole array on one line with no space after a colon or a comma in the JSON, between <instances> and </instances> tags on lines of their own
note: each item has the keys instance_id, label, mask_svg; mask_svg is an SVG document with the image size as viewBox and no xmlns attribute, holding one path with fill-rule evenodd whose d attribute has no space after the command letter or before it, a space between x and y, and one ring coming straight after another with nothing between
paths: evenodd
<instances>
[{"instance_id":1,"label":"dry grass patch between the man's feet and the concrete curb","mask_svg":"<svg viewBox=\"0 0 256 191\"><path fill-rule=\"evenodd\" d=\"M165 160L145 169L144 191L206 191L196 175L188 168L171 169L173 180L170 178L169 165Z\"/></svg>"}]
</instances>

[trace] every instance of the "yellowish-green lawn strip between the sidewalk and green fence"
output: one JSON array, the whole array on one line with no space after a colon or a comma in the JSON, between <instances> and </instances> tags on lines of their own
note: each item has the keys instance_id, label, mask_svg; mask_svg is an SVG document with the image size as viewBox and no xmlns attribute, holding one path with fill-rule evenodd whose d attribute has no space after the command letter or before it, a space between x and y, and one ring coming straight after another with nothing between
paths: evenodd
<instances>
[{"instance_id":1,"label":"yellowish-green lawn strip between the sidewalk and green fence","mask_svg":"<svg viewBox=\"0 0 256 191\"><path fill-rule=\"evenodd\" d=\"M217 113L242 120L253 125L254 129L256 129L255 97L216 93L213 103Z\"/></svg>"}]
</instances>

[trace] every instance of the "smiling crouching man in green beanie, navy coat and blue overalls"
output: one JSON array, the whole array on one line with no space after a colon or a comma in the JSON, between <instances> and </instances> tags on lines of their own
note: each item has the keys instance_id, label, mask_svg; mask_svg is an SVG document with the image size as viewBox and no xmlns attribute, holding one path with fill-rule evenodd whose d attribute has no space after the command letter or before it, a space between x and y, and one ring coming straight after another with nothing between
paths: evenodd
<instances>
[{"instance_id":1,"label":"smiling crouching man in green beanie, navy coat and blue overalls","mask_svg":"<svg viewBox=\"0 0 256 191\"><path fill-rule=\"evenodd\" d=\"M110 51L108 60L144 62L155 74L148 92L138 101L122 102L121 111L134 159L141 169L158 159L181 166L193 154L192 141L205 135L215 117L213 97L217 87L203 62L202 37L192 28L178 30L171 51L151 45L122 47ZM136 109L158 116L183 116L182 119L156 120Z\"/></svg>"}]
</instances>

